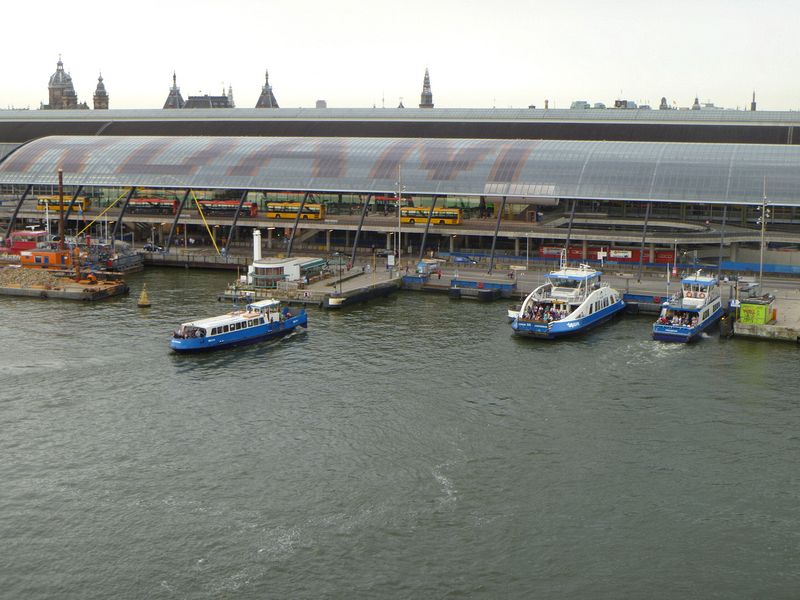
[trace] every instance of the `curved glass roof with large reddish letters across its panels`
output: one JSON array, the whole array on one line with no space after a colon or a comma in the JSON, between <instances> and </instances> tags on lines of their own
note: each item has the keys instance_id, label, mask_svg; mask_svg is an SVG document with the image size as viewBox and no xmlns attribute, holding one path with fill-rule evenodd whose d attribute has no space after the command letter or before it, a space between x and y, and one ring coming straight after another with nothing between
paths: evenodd
<instances>
[{"instance_id":1,"label":"curved glass roof with large reddish letters across its panels","mask_svg":"<svg viewBox=\"0 0 800 600\"><path fill-rule=\"evenodd\" d=\"M800 205L800 146L564 140L54 136L2 184Z\"/></svg>"}]
</instances>

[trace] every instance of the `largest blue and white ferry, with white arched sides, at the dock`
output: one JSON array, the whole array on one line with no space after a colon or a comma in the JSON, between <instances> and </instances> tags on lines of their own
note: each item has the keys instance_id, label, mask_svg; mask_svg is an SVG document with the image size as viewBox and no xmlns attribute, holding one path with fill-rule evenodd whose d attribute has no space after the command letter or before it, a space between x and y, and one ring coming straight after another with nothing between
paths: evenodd
<instances>
[{"instance_id":1,"label":"largest blue and white ferry, with white arched sides, at the dock","mask_svg":"<svg viewBox=\"0 0 800 600\"><path fill-rule=\"evenodd\" d=\"M622 295L600 282L601 271L589 265L561 268L528 294L512 318L514 333L545 339L574 335L609 320L625 308Z\"/></svg>"}]
</instances>

